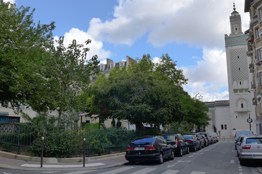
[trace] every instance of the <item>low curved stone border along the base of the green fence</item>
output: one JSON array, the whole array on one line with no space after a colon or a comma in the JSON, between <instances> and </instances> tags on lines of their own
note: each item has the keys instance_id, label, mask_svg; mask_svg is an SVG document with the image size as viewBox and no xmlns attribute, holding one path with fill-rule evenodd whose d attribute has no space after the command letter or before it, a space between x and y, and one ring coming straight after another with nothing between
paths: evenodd
<instances>
[{"instance_id":1,"label":"low curved stone border along the base of the green fence","mask_svg":"<svg viewBox=\"0 0 262 174\"><path fill-rule=\"evenodd\" d=\"M122 156L124 154L125 154L125 152L108 154L108 155L101 155L101 156L96 156L96 157L86 157L85 161L94 161L94 160L105 159L105 158L119 157L119 156ZM24 160L24 161L41 162L40 157L30 157L30 156L26 156L26 155L19 155L19 154L3 152L3 151L0 151L0 157L17 159L17 160ZM45 162L45 163L76 163L80 159L83 159L83 158L81 158L81 157L78 157L78 158L46 158L46 157L44 157L43 162Z\"/></svg>"}]
</instances>

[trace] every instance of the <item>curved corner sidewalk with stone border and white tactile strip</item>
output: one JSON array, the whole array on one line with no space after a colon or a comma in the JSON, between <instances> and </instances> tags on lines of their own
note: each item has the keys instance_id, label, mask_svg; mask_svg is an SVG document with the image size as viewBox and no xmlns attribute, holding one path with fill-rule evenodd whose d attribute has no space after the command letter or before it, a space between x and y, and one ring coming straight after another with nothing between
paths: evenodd
<instances>
[{"instance_id":1,"label":"curved corner sidewalk with stone border and white tactile strip","mask_svg":"<svg viewBox=\"0 0 262 174\"><path fill-rule=\"evenodd\" d=\"M15 169L29 171L63 171L63 170L97 170L111 167L119 167L129 164L125 159L125 152L85 158L45 158L43 167L41 158L18 155L0 151L0 169ZM81 162L77 162L81 161ZM58 162L60 161L60 162ZM64 162L61 162L64 161ZM66 161L66 162L65 162Z\"/></svg>"}]
</instances>

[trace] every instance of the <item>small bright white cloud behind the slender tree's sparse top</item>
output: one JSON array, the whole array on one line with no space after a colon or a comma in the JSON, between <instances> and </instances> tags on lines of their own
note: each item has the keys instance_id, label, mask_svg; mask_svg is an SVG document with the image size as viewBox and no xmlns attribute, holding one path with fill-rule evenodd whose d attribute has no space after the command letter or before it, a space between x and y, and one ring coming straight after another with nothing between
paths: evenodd
<instances>
[{"instance_id":1,"label":"small bright white cloud behind the slender tree's sparse top","mask_svg":"<svg viewBox=\"0 0 262 174\"><path fill-rule=\"evenodd\" d=\"M55 36L54 40L58 40L59 37ZM110 51L105 51L102 49L103 43L102 41L97 41L93 37L91 37L88 33L84 31L80 31L77 28L70 29L69 32L64 34L64 46L67 47L69 44L72 43L73 39L77 41L77 44L84 44L85 41L91 39L91 43L85 45L85 47L90 48L89 52L87 53L87 60L92 58L92 56L97 55L99 60L103 60L109 58L111 56ZM57 46L58 44L55 44Z\"/></svg>"}]
</instances>

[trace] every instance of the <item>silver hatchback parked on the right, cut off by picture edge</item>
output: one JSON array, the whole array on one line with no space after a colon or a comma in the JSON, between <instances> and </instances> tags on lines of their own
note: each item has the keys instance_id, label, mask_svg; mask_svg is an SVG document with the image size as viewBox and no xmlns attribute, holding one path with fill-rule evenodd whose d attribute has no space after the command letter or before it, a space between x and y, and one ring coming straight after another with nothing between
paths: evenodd
<instances>
[{"instance_id":1,"label":"silver hatchback parked on the right, cut off by picture edge","mask_svg":"<svg viewBox=\"0 0 262 174\"><path fill-rule=\"evenodd\" d=\"M262 161L262 136L246 136L238 145L238 160L240 161L240 165L245 165L246 161Z\"/></svg>"}]
</instances>

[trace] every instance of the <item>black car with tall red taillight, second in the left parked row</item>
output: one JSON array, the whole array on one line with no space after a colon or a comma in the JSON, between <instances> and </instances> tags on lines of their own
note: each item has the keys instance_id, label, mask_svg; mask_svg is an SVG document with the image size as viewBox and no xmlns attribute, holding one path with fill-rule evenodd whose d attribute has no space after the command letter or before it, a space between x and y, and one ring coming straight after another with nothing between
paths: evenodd
<instances>
[{"instance_id":1,"label":"black car with tall red taillight, second in the left parked row","mask_svg":"<svg viewBox=\"0 0 262 174\"><path fill-rule=\"evenodd\" d=\"M181 134L166 134L162 135L167 142L170 142L174 147L175 155L182 157L183 153L189 154L189 145Z\"/></svg>"}]
</instances>

